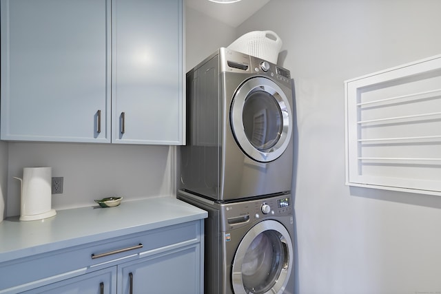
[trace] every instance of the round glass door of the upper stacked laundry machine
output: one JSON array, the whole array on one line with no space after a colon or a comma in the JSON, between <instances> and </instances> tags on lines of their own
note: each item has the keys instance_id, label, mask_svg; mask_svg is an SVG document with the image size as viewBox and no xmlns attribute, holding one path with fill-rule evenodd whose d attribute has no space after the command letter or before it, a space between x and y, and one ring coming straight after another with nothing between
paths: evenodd
<instances>
[{"instance_id":1,"label":"round glass door of the upper stacked laundry machine","mask_svg":"<svg viewBox=\"0 0 441 294\"><path fill-rule=\"evenodd\" d=\"M289 101L269 78L250 78L239 87L233 97L230 121L240 148L258 162L276 160L291 139Z\"/></svg>"}]
</instances>

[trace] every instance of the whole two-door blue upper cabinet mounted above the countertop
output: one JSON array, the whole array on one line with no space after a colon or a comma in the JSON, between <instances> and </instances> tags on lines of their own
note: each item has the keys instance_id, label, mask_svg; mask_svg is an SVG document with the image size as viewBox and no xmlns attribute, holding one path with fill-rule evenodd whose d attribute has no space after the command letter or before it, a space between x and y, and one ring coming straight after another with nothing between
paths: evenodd
<instances>
[{"instance_id":1,"label":"whole two-door blue upper cabinet mounted above the countertop","mask_svg":"<svg viewBox=\"0 0 441 294\"><path fill-rule=\"evenodd\" d=\"M181 145L182 0L1 0L1 139Z\"/></svg>"}]
</instances>

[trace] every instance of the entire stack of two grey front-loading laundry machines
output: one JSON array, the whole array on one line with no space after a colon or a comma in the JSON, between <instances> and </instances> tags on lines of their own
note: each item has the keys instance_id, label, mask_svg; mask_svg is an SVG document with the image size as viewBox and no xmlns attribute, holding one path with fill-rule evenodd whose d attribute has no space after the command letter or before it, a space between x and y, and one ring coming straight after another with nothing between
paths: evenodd
<instances>
[{"instance_id":1,"label":"entire stack of two grey front-loading laundry machines","mask_svg":"<svg viewBox=\"0 0 441 294\"><path fill-rule=\"evenodd\" d=\"M220 48L187 73L178 198L208 211L205 293L294 293L290 72Z\"/></svg>"}]
</instances>

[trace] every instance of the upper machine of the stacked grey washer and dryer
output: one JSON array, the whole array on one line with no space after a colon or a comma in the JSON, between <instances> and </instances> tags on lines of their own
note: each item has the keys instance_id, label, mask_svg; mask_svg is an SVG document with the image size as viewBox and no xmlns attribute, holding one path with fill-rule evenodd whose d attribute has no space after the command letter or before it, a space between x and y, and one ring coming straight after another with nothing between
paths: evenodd
<instances>
[{"instance_id":1,"label":"upper machine of the stacked grey washer and dryer","mask_svg":"<svg viewBox=\"0 0 441 294\"><path fill-rule=\"evenodd\" d=\"M215 200L291 191L289 70L220 48L187 72L180 189Z\"/></svg>"}]
</instances>

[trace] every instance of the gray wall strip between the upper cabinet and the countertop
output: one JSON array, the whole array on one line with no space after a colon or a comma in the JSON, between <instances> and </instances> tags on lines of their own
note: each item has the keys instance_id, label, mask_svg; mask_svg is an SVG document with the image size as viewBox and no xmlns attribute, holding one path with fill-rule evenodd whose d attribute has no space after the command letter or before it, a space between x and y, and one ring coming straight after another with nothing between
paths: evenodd
<instances>
[{"instance_id":1,"label":"gray wall strip between the upper cabinet and the countertop","mask_svg":"<svg viewBox=\"0 0 441 294\"><path fill-rule=\"evenodd\" d=\"M95 205L94 199L123 196L125 201L172 196L176 187L176 147L75 143L8 143L7 215L20 214L23 167L52 167L63 177L54 209Z\"/></svg>"}]
</instances>

